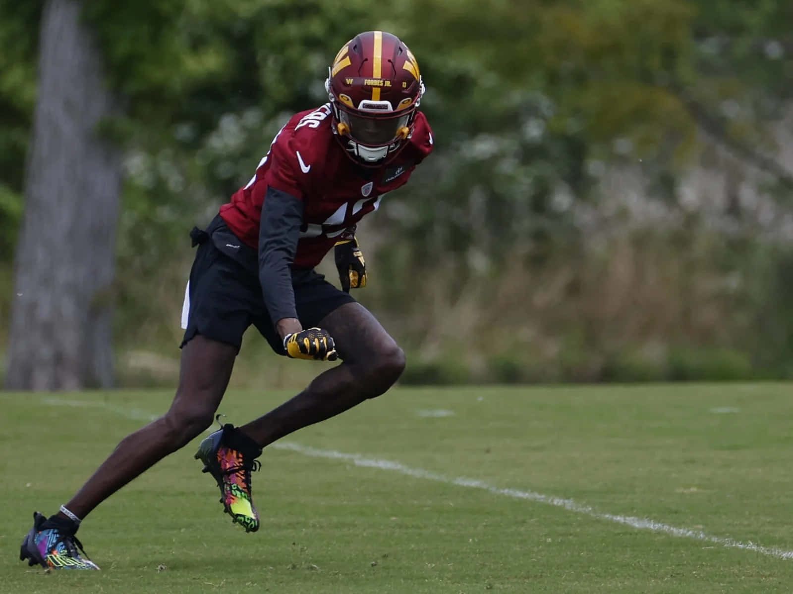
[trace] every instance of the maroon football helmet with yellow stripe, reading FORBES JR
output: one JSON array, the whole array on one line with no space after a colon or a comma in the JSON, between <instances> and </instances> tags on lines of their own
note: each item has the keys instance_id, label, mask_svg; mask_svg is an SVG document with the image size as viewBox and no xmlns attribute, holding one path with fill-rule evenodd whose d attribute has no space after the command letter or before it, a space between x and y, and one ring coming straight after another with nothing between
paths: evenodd
<instances>
[{"instance_id":1,"label":"maroon football helmet with yellow stripe, reading FORBES JR","mask_svg":"<svg viewBox=\"0 0 793 594\"><path fill-rule=\"evenodd\" d=\"M347 154L375 167L395 157L412 135L424 93L408 46L391 33L367 31L344 44L328 71L333 131Z\"/></svg>"}]
</instances>

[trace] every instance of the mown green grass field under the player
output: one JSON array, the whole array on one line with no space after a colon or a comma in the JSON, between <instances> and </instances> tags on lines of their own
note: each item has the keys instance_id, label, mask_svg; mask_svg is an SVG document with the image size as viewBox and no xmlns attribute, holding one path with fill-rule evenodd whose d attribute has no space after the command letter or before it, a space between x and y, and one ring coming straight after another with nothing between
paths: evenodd
<instances>
[{"instance_id":1,"label":"mown green grass field under the player","mask_svg":"<svg viewBox=\"0 0 793 594\"><path fill-rule=\"evenodd\" d=\"M239 424L288 395L232 392L221 412ZM221 513L190 444L81 528L102 572L45 574L17 560L33 510L170 393L0 394L0 592L793 592L791 397L393 390L265 451L258 533Z\"/></svg>"}]
</instances>

